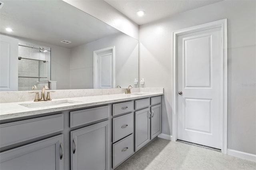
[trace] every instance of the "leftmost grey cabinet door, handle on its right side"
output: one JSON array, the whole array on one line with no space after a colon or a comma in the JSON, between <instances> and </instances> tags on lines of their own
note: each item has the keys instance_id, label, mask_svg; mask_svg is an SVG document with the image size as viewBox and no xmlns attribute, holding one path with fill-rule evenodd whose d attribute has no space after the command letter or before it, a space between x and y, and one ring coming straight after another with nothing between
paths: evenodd
<instances>
[{"instance_id":1,"label":"leftmost grey cabinet door, handle on its right side","mask_svg":"<svg viewBox=\"0 0 256 170\"><path fill-rule=\"evenodd\" d=\"M1 170L63 170L63 134L0 153Z\"/></svg>"}]
</instances>

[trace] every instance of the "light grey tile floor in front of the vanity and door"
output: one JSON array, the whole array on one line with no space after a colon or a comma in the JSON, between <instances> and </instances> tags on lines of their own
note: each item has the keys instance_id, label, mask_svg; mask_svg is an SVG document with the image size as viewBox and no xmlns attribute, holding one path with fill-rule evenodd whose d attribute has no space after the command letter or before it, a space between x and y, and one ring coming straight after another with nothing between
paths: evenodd
<instances>
[{"instance_id":1,"label":"light grey tile floor in front of the vanity and door","mask_svg":"<svg viewBox=\"0 0 256 170\"><path fill-rule=\"evenodd\" d=\"M115 170L256 170L256 162L157 137Z\"/></svg>"}]
</instances>

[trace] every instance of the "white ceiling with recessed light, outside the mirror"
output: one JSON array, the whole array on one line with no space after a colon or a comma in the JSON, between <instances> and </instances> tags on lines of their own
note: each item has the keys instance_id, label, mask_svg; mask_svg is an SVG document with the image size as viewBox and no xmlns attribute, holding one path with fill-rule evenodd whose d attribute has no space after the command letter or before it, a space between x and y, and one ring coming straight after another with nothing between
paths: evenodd
<instances>
[{"instance_id":1,"label":"white ceiling with recessed light, outside the mirror","mask_svg":"<svg viewBox=\"0 0 256 170\"><path fill-rule=\"evenodd\" d=\"M147 24L168 16L214 4L222 0L105 0L138 25ZM136 15L138 10L145 15Z\"/></svg>"}]
</instances>

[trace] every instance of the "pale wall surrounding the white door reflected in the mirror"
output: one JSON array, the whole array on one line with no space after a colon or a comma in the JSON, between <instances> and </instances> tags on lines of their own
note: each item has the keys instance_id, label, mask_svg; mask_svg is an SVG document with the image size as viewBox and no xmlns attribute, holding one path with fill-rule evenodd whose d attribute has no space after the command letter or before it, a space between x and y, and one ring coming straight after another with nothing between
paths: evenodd
<instances>
[{"instance_id":1,"label":"pale wall surrounding the white door reflected in the mirror","mask_svg":"<svg viewBox=\"0 0 256 170\"><path fill-rule=\"evenodd\" d=\"M93 89L93 51L111 46L115 46L116 85L133 85L138 78L138 41L118 33L71 49L71 89Z\"/></svg>"}]
</instances>

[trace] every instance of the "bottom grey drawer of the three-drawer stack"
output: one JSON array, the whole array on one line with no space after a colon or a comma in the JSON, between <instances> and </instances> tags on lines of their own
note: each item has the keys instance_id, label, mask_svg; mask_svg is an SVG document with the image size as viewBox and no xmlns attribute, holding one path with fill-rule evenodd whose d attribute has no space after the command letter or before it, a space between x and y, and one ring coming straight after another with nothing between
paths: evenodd
<instances>
[{"instance_id":1,"label":"bottom grey drawer of the three-drawer stack","mask_svg":"<svg viewBox=\"0 0 256 170\"><path fill-rule=\"evenodd\" d=\"M134 153L133 134L113 144L113 168L120 165Z\"/></svg>"}]
</instances>

